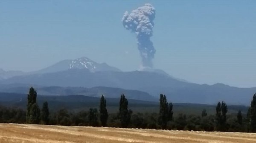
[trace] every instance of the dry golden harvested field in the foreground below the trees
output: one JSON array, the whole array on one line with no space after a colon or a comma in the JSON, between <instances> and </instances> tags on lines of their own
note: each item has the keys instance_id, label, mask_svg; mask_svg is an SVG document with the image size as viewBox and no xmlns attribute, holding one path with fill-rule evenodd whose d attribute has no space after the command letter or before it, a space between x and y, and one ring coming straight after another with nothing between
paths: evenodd
<instances>
[{"instance_id":1,"label":"dry golden harvested field in the foreground below the trees","mask_svg":"<svg viewBox=\"0 0 256 143\"><path fill-rule=\"evenodd\" d=\"M0 143L256 143L256 134L0 124Z\"/></svg>"}]
</instances>

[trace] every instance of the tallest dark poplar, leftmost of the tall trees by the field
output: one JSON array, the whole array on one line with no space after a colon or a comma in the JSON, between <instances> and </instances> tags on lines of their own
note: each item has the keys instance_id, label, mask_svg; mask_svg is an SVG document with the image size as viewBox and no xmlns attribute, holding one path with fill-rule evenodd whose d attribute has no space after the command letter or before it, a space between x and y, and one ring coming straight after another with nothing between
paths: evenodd
<instances>
[{"instance_id":1,"label":"tallest dark poplar, leftmost of the tall trees by the field","mask_svg":"<svg viewBox=\"0 0 256 143\"><path fill-rule=\"evenodd\" d=\"M36 102L37 93L33 87L29 89L26 123L38 124L40 122L40 108Z\"/></svg>"}]
</instances>

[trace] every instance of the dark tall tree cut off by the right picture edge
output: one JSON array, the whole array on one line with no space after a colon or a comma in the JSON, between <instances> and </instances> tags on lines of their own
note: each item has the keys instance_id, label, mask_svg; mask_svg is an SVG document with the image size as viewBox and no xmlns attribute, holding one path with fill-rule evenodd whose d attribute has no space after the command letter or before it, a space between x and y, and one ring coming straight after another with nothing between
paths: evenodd
<instances>
[{"instance_id":1,"label":"dark tall tree cut off by the right picture edge","mask_svg":"<svg viewBox=\"0 0 256 143\"><path fill-rule=\"evenodd\" d=\"M250 132L256 132L256 94L253 95L250 109L248 110Z\"/></svg>"}]
</instances>

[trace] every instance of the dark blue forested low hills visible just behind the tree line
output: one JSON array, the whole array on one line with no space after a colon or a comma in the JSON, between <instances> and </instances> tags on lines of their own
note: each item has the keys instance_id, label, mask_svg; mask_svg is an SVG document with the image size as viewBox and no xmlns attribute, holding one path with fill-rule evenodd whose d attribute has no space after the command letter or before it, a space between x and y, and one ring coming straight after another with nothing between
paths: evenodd
<instances>
[{"instance_id":1,"label":"dark blue forested low hills visible just behind the tree line","mask_svg":"<svg viewBox=\"0 0 256 143\"><path fill-rule=\"evenodd\" d=\"M0 92L0 105L5 107L18 107L21 109L27 108L27 94L20 93L1 93ZM116 113L119 109L120 98L105 97L107 100L109 113ZM88 110L92 107L99 106L100 97L84 96L84 95L38 95L38 105L42 105L45 101L49 104L51 111L58 111L59 109L66 108L70 111ZM193 112L195 115L201 115L203 109L207 109L208 114L215 114L215 105L206 104L183 104L177 103L174 105L174 114L179 113L190 114ZM129 99L129 108L135 112L159 112L159 102L154 101L141 101ZM247 112L248 107L241 105L229 105L229 113L236 114L239 110Z\"/></svg>"}]
</instances>

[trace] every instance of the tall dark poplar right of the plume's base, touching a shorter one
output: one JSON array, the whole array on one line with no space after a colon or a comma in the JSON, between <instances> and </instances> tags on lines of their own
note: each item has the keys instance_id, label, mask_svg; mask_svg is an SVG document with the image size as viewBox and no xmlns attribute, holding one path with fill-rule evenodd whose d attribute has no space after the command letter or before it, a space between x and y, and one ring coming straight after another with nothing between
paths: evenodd
<instances>
[{"instance_id":1,"label":"tall dark poplar right of the plume's base, touching a shorter one","mask_svg":"<svg viewBox=\"0 0 256 143\"><path fill-rule=\"evenodd\" d=\"M159 118L158 124L162 129L166 129L168 118L169 118L169 107L166 100L166 95L160 94L160 109L159 109Z\"/></svg>"}]
</instances>

